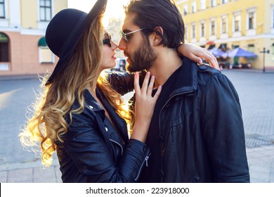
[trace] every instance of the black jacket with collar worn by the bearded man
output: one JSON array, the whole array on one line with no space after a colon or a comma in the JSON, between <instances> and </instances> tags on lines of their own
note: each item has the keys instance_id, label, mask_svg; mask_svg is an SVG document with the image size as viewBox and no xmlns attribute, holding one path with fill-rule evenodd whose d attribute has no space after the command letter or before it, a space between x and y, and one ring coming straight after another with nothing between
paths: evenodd
<instances>
[{"instance_id":1,"label":"black jacket with collar worn by the bearded man","mask_svg":"<svg viewBox=\"0 0 274 197\"><path fill-rule=\"evenodd\" d=\"M187 58L179 75L155 136L162 153L161 182L249 182L242 112L233 84L218 70ZM116 77L112 82L121 87L124 79Z\"/></svg>"}]
</instances>

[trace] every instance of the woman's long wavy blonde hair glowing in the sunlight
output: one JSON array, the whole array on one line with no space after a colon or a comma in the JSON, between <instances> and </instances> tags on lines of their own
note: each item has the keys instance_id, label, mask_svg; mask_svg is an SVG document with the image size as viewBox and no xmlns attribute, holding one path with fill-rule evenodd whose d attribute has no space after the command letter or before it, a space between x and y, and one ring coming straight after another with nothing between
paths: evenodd
<instances>
[{"instance_id":1,"label":"woman's long wavy blonde hair glowing in the sunlight","mask_svg":"<svg viewBox=\"0 0 274 197\"><path fill-rule=\"evenodd\" d=\"M92 82L96 78L103 57L102 17L103 15L99 15L84 32L58 79L56 77L51 84L46 85L50 75L42 77L39 94L30 106L32 116L19 134L22 146L31 148L36 154L39 153L44 167L51 166L52 156L56 151L55 142L63 142L61 136L67 133L67 127L71 122L66 122L65 116L70 115L72 121L73 113L81 113L84 110L84 90L87 87L95 88L92 87ZM105 77L100 75L97 87L103 91L118 115L129 122L129 112L124 108L121 95L111 88ZM70 110L75 99L80 106Z\"/></svg>"}]
</instances>

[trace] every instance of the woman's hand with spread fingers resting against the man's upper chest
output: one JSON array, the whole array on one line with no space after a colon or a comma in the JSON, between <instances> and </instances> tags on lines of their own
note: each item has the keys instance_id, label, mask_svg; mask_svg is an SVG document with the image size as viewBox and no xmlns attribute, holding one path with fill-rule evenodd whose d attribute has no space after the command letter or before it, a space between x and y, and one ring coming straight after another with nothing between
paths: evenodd
<instances>
[{"instance_id":1,"label":"woman's hand with spread fingers resting against the man's upper chest","mask_svg":"<svg viewBox=\"0 0 274 197\"><path fill-rule=\"evenodd\" d=\"M138 139L139 141L145 142L155 104L162 90L161 86L158 87L156 94L152 96L154 82L155 76L150 77L150 72L147 72L141 89L139 84L139 73L135 73L135 124L133 127L133 132L131 134L131 139Z\"/></svg>"}]
</instances>

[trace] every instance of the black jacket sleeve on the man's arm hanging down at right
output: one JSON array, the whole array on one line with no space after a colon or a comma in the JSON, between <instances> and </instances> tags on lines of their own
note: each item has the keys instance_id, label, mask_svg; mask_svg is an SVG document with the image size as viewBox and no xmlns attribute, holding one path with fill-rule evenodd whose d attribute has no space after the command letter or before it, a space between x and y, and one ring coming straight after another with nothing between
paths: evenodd
<instances>
[{"instance_id":1,"label":"black jacket sleeve on the man's arm hanging down at right","mask_svg":"<svg viewBox=\"0 0 274 197\"><path fill-rule=\"evenodd\" d=\"M201 115L216 182L250 182L240 101L225 75L213 75L205 84Z\"/></svg>"}]
</instances>

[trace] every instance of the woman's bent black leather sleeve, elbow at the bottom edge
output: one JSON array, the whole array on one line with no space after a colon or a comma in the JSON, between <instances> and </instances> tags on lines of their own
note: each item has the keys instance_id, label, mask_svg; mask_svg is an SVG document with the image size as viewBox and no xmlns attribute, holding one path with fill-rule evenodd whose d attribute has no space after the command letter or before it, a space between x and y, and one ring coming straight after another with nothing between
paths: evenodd
<instances>
[{"instance_id":1,"label":"woman's bent black leather sleeve, elbow at the bottom edge","mask_svg":"<svg viewBox=\"0 0 274 197\"><path fill-rule=\"evenodd\" d=\"M74 115L63 146L79 172L87 177L87 182L137 182L148 159L149 148L141 141L131 139L122 158L116 162L99 133L90 117L84 117L82 113Z\"/></svg>"}]
</instances>

